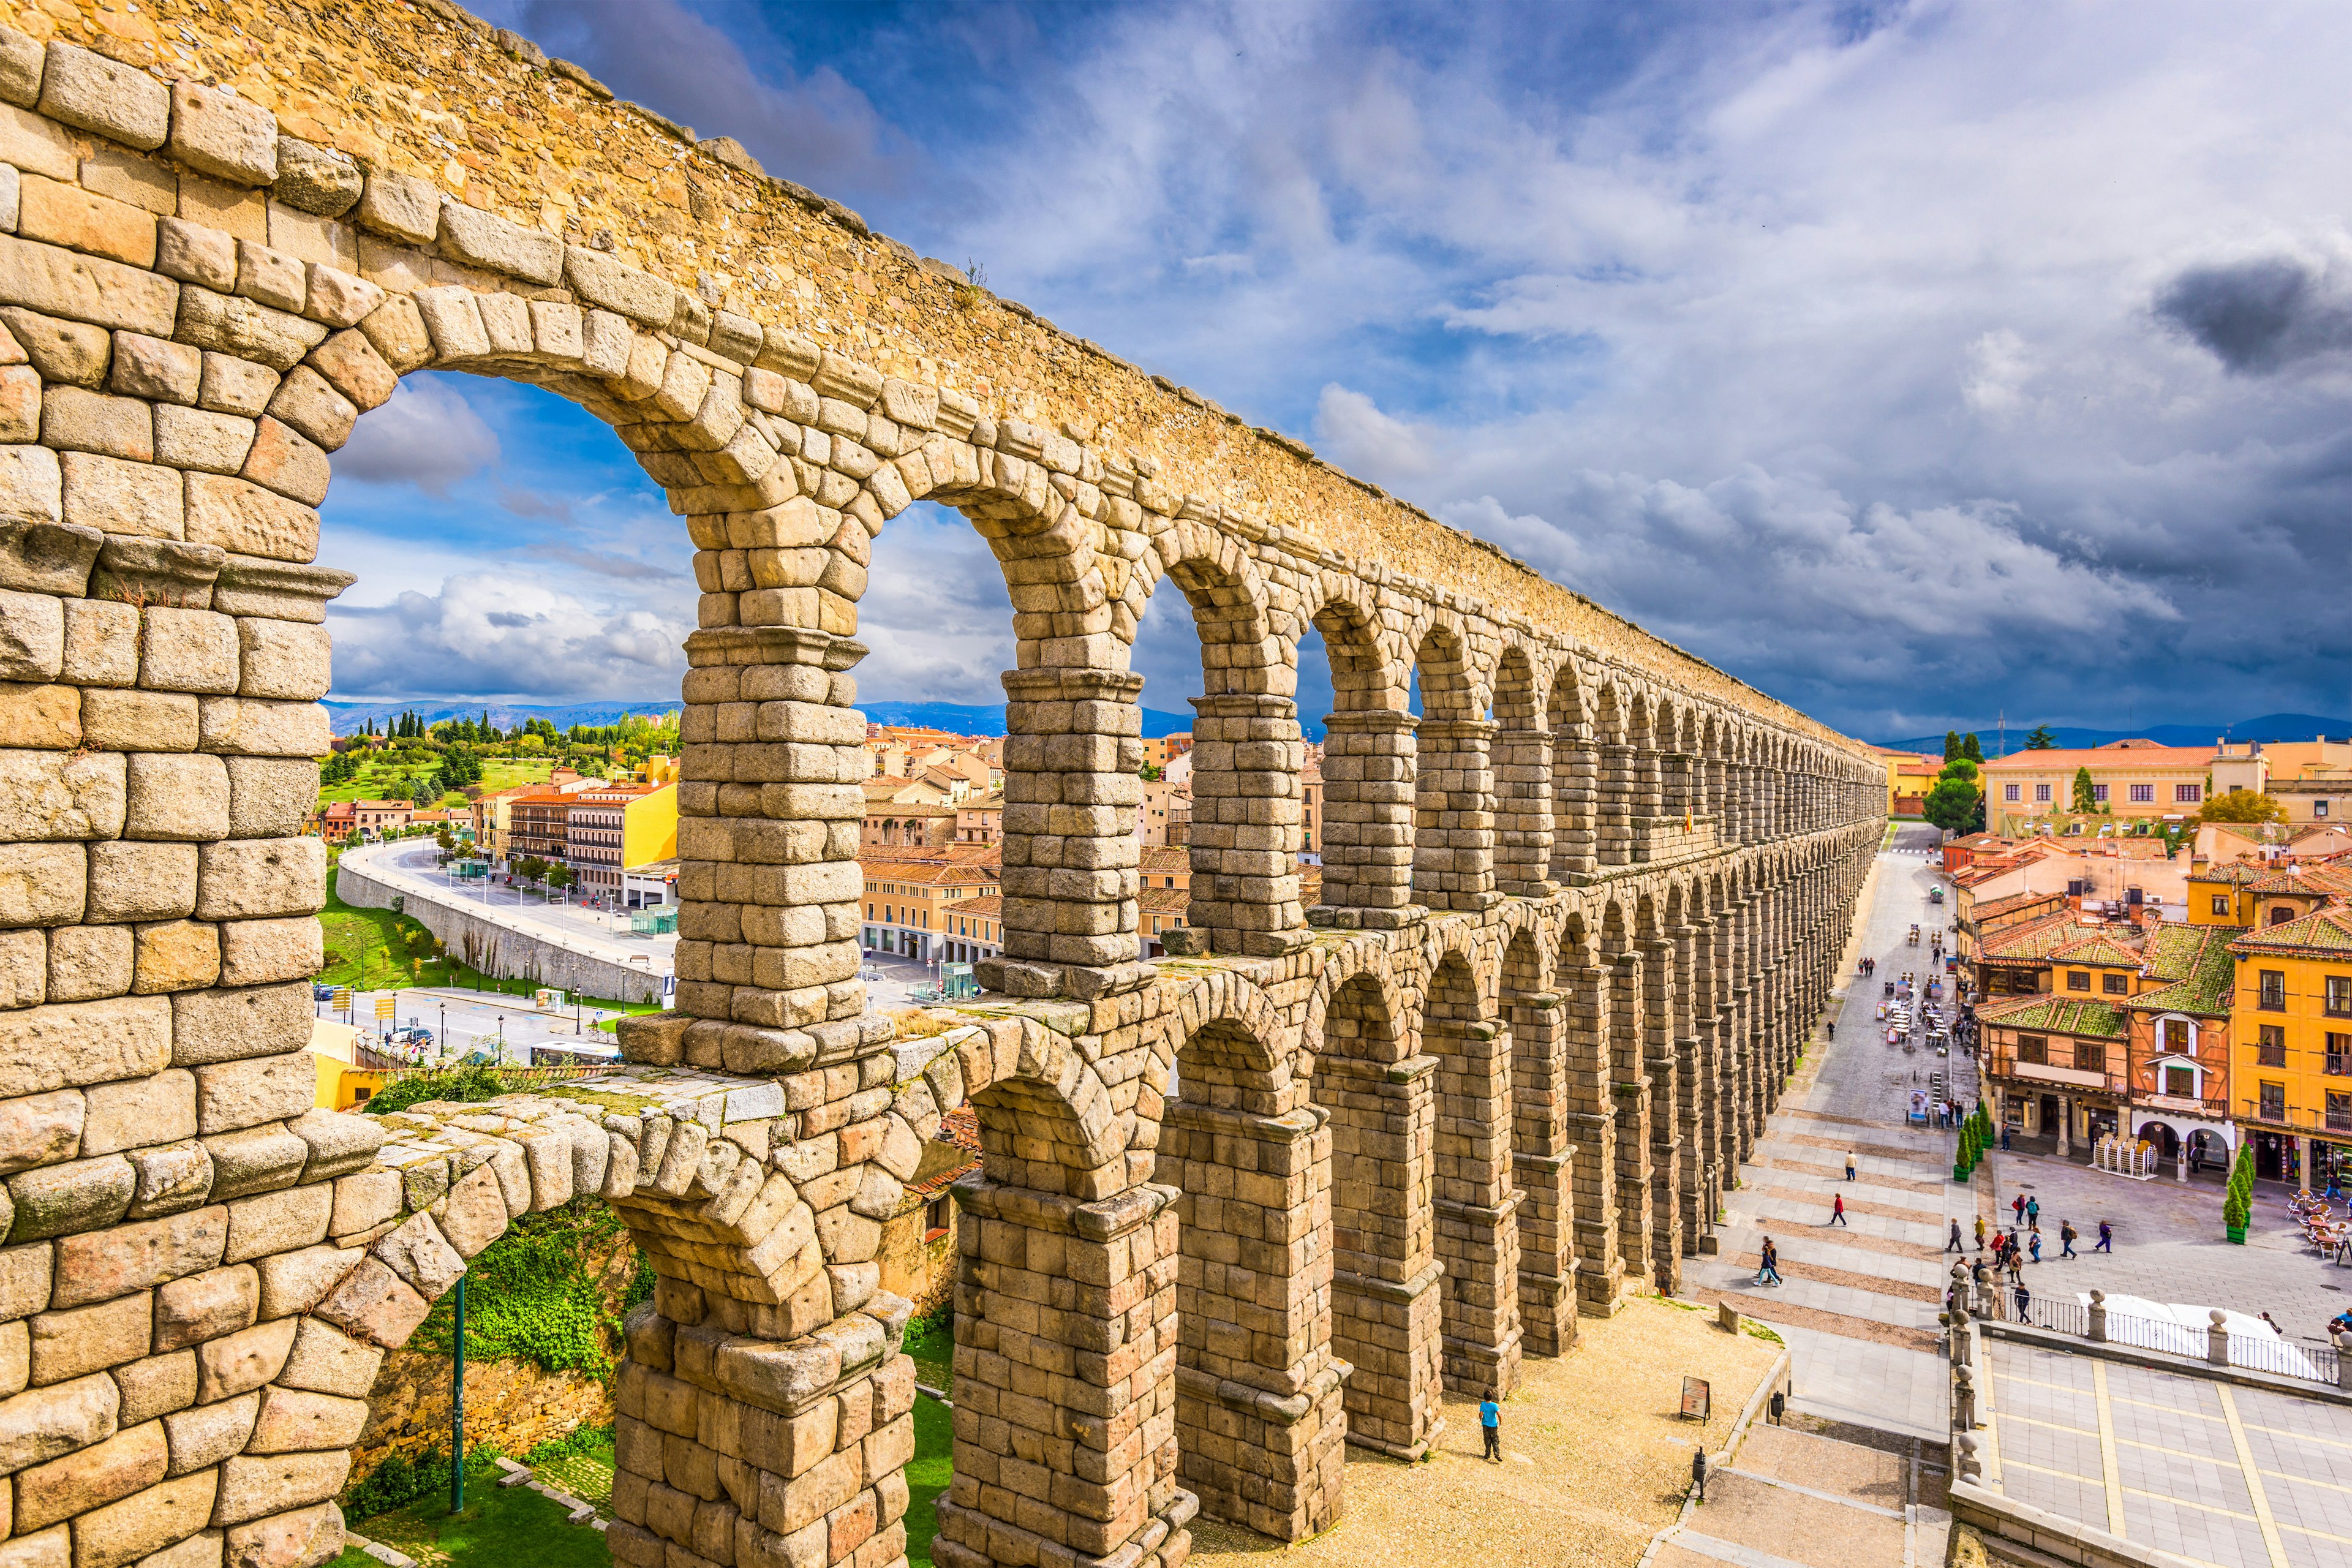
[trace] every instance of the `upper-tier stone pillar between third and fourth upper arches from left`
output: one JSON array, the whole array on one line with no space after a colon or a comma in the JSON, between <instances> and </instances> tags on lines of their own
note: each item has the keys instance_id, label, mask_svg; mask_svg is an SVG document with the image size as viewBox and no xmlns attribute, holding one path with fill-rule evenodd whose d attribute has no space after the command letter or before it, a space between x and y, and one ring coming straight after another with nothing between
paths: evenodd
<instances>
[{"instance_id":1,"label":"upper-tier stone pillar between third and fourth upper arches from left","mask_svg":"<svg viewBox=\"0 0 2352 1568\"><path fill-rule=\"evenodd\" d=\"M1308 945L1298 903L1305 743L1287 696L1197 696L1192 903L1209 952L1270 959Z\"/></svg>"}]
</instances>

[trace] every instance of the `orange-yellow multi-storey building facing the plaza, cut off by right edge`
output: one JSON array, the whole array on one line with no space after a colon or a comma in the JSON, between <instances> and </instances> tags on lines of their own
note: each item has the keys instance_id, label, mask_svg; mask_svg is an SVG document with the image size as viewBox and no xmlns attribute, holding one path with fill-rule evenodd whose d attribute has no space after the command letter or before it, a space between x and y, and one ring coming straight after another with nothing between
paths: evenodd
<instances>
[{"instance_id":1,"label":"orange-yellow multi-storey building facing the plaza, cut off by right edge","mask_svg":"<svg viewBox=\"0 0 2352 1568\"><path fill-rule=\"evenodd\" d=\"M2230 1110L2256 1175L2307 1187L2352 1159L2352 907L2246 931L2230 952Z\"/></svg>"}]
</instances>

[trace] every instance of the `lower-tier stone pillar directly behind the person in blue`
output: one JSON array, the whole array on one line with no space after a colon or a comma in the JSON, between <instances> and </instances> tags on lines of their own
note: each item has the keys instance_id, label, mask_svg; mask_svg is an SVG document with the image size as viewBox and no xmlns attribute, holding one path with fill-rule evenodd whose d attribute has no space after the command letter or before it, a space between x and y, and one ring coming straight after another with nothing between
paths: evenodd
<instances>
[{"instance_id":1,"label":"lower-tier stone pillar directly behind the person in blue","mask_svg":"<svg viewBox=\"0 0 2352 1568\"><path fill-rule=\"evenodd\" d=\"M1439 971L1442 976L1444 971ZM1470 1016L1449 1018L1461 1011ZM1461 1394L1519 1387L1519 1192L1510 1175L1510 1032L1442 987L1423 1041L1437 1056L1437 1260L1444 1378Z\"/></svg>"}]
</instances>

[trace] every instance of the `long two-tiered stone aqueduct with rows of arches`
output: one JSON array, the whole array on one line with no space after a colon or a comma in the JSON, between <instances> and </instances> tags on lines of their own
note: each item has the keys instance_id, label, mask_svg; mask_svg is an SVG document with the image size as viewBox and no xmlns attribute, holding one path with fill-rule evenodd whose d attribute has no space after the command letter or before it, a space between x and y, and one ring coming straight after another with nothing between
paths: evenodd
<instances>
[{"instance_id":1,"label":"long two-tiered stone aqueduct with rows of arches","mask_svg":"<svg viewBox=\"0 0 2352 1568\"><path fill-rule=\"evenodd\" d=\"M614 1556L889 1568L877 1220L964 1103L955 1568L1319 1530L1343 1443L1425 1453L1442 1389L1675 1286L1879 844L1860 745L449 5L0 12L0 1563L332 1554L383 1349L602 1194L661 1274ZM303 1053L315 508L428 367L590 409L694 538L680 983L604 1079L367 1119ZM906 1074L854 637L924 498L1018 668L1004 957ZM1152 592L1207 696L1197 952L1143 964Z\"/></svg>"}]
</instances>

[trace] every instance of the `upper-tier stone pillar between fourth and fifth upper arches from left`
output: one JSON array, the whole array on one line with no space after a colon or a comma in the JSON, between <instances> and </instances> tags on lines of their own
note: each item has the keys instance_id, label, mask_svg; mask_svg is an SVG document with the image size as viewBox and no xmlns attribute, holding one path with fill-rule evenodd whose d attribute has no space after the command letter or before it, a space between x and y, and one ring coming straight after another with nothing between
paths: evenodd
<instances>
[{"instance_id":1,"label":"upper-tier stone pillar between fourth and fifth upper arches from left","mask_svg":"<svg viewBox=\"0 0 2352 1568\"><path fill-rule=\"evenodd\" d=\"M1395 931L1428 914L1414 903L1414 726L1388 708L1324 719L1324 877L1310 924Z\"/></svg>"}]
</instances>

